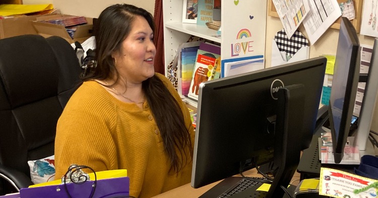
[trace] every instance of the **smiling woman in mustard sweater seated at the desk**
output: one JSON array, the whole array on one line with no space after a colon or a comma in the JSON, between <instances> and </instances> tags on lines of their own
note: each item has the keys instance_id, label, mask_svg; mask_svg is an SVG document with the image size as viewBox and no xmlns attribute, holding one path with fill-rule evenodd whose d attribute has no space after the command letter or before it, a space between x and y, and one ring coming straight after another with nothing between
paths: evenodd
<instances>
[{"instance_id":1,"label":"smiling woman in mustard sweater seated at the desk","mask_svg":"<svg viewBox=\"0 0 378 198\"><path fill-rule=\"evenodd\" d=\"M96 66L57 123L57 176L71 164L127 169L136 197L190 182L194 128L169 80L154 73L154 30L152 15L132 5L100 14Z\"/></svg>"}]
</instances>

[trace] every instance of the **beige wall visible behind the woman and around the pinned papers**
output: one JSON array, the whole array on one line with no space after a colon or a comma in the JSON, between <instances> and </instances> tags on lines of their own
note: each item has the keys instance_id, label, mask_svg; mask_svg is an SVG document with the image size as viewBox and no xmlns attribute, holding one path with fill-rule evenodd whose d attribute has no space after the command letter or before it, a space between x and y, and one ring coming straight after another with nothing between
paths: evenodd
<instances>
[{"instance_id":1,"label":"beige wall visible behind the woman and around the pinned papers","mask_svg":"<svg viewBox=\"0 0 378 198\"><path fill-rule=\"evenodd\" d=\"M174 0L179 1L179 0ZM154 13L155 0L23 0L24 4L53 4L55 8L60 9L64 14L78 15L85 17L97 18L103 9L112 4L132 4L138 7L142 7ZM267 12L268 13L268 12ZM277 31L283 28L281 21L275 17L267 16L267 31L266 31L266 48L265 55L266 65L270 67L271 65L271 51L272 51L272 39ZM299 27L299 30L305 34L303 25ZM336 54L337 40L338 40L339 30L328 29L327 32L314 44L310 47L310 57L317 57L322 54ZM359 36L360 43L366 45L373 44L373 38L368 36ZM375 105L374 116L371 129L378 131L378 105Z\"/></svg>"}]
</instances>

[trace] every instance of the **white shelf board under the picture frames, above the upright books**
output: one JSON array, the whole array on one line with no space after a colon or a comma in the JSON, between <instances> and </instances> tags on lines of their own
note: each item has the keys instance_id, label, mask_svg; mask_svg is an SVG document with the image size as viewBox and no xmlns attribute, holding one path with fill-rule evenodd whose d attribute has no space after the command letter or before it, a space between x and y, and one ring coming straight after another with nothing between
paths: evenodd
<instances>
[{"instance_id":1,"label":"white shelf board under the picture frames, above the upright books","mask_svg":"<svg viewBox=\"0 0 378 198\"><path fill-rule=\"evenodd\" d=\"M217 35L217 31L212 30L207 26L200 26L191 23L169 22L165 24L165 27L221 43L221 37L214 37Z\"/></svg>"}]
</instances>

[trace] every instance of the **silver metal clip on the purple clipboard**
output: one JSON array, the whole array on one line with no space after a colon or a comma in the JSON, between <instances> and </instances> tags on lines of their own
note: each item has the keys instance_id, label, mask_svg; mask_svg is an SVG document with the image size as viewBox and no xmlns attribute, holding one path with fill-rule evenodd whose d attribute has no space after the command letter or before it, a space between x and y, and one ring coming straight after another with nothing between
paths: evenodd
<instances>
[{"instance_id":1,"label":"silver metal clip on the purple clipboard","mask_svg":"<svg viewBox=\"0 0 378 198\"><path fill-rule=\"evenodd\" d=\"M71 164L65 175L61 177L61 183L84 183L90 181L90 177L82 170L83 166Z\"/></svg>"}]
</instances>

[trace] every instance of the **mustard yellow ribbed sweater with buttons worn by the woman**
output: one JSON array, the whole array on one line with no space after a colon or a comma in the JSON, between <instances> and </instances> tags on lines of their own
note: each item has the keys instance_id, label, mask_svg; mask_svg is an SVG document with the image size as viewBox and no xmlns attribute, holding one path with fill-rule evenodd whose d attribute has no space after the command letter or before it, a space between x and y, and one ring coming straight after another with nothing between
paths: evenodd
<instances>
[{"instance_id":1,"label":"mustard yellow ribbed sweater with buttons worn by the woman","mask_svg":"<svg viewBox=\"0 0 378 198\"><path fill-rule=\"evenodd\" d=\"M194 128L187 107L172 84L155 74L179 101L194 145ZM56 177L71 164L95 171L127 169L130 195L151 197L191 181L192 162L176 174L169 171L168 156L147 102L136 104L115 99L97 82L84 82L62 112L56 128Z\"/></svg>"}]
</instances>

